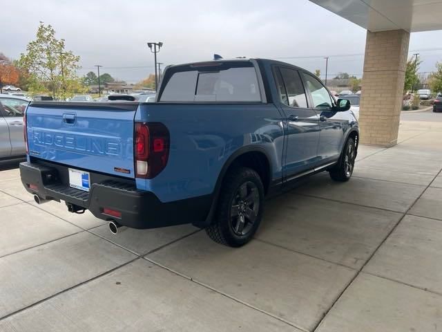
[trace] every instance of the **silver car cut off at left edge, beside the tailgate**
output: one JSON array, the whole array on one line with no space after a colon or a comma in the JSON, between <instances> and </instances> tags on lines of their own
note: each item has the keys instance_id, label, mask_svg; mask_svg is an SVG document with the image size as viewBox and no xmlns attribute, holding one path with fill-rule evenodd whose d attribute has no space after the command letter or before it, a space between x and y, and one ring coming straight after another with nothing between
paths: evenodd
<instances>
[{"instance_id":1,"label":"silver car cut off at left edge, beside the tailgate","mask_svg":"<svg viewBox=\"0 0 442 332\"><path fill-rule=\"evenodd\" d=\"M0 95L0 160L26 155L23 137L23 113L26 98Z\"/></svg>"}]
</instances>

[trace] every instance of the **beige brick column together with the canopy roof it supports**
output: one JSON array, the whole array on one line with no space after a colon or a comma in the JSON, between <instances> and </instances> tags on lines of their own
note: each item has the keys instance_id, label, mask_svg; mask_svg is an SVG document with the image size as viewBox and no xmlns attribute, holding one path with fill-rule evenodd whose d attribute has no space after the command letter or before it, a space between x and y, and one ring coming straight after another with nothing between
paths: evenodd
<instances>
[{"instance_id":1,"label":"beige brick column together with the canopy roof it supports","mask_svg":"<svg viewBox=\"0 0 442 332\"><path fill-rule=\"evenodd\" d=\"M361 142L398 138L410 33L442 30L442 0L310 0L367 29L359 124Z\"/></svg>"}]
</instances>

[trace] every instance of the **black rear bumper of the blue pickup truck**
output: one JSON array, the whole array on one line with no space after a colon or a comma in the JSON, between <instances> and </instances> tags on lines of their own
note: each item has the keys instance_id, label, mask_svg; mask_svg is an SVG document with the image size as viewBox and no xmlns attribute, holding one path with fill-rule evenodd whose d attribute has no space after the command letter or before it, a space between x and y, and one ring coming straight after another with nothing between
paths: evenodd
<instances>
[{"instance_id":1,"label":"black rear bumper of the blue pickup truck","mask_svg":"<svg viewBox=\"0 0 442 332\"><path fill-rule=\"evenodd\" d=\"M162 203L153 192L137 190L135 185L119 182L118 178L92 183L90 192L84 192L61 183L59 167L37 163L21 163L20 175L26 190L41 199L65 201L89 210L99 219L117 221L130 228L198 225L206 219L211 206L211 195ZM121 218L104 214L104 208L121 212Z\"/></svg>"}]
</instances>

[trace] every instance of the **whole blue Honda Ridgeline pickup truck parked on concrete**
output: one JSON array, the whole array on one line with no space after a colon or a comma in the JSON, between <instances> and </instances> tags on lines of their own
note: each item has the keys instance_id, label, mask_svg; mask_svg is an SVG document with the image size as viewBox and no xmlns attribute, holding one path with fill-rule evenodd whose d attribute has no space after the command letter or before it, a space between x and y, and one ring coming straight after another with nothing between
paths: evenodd
<instances>
[{"instance_id":1,"label":"whole blue Honda Ridgeline pickup truck parked on concrete","mask_svg":"<svg viewBox=\"0 0 442 332\"><path fill-rule=\"evenodd\" d=\"M155 102L31 102L21 181L120 226L193 223L227 246L256 232L266 196L328 171L352 176L358 121L317 77L269 59L169 66Z\"/></svg>"}]
</instances>

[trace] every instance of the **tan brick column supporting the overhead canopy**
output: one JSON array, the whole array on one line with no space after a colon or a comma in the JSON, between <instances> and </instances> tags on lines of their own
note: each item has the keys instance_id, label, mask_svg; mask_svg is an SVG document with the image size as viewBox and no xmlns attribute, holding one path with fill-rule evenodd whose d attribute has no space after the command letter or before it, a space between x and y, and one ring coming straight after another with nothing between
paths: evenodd
<instances>
[{"instance_id":1,"label":"tan brick column supporting the overhead canopy","mask_svg":"<svg viewBox=\"0 0 442 332\"><path fill-rule=\"evenodd\" d=\"M391 147L398 139L410 33L367 30L359 124L361 143Z\"/></svg>"}]
</instances>

